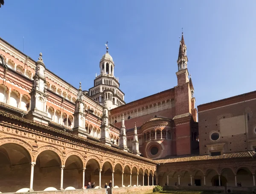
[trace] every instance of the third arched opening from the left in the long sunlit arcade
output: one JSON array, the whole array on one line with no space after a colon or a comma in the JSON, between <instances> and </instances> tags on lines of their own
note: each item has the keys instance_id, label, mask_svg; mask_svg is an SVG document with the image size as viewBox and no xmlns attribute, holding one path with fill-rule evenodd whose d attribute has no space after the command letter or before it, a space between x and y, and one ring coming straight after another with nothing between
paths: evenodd
<instances>
[{"instance_id":1,"label":"third arched opening from the left in the long sunlit arcade","mask_svg":"<svg viewBox=\"0 0 256 194\"><path fill-rule=\"evenodd\" d=\"M65 162L65 168L63 171L63 188L82 188L83 168L84 165L79 156L69 156Z\"/></svg>"}]
</instances>

